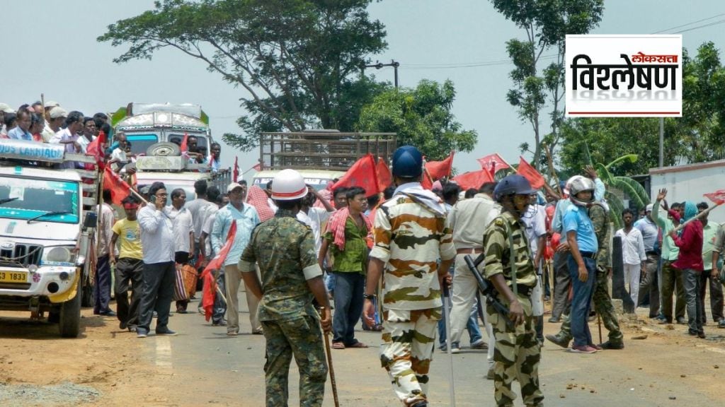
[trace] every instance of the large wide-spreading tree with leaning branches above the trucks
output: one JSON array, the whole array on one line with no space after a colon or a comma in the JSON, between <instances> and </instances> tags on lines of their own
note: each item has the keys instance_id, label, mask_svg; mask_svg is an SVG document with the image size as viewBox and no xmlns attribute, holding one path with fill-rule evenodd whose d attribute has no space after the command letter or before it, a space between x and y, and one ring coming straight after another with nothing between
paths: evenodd
<instances>
[{"instance_id":1,"label":"large wide-spreading tree with leaning branches above the trucks","mask_svg":"<svg viewBox=\"0 0 725 407\"><path fill-rule=\"evenodd\" d=\"M224 140L244 151L260 131L352 130L360 108L384 87L361 77L368 56L386 49L372 0L164 0L108 26L98 41L128 46L114 62L175 49L241 86L244 134Z\"/></svg>"}]
</instances>

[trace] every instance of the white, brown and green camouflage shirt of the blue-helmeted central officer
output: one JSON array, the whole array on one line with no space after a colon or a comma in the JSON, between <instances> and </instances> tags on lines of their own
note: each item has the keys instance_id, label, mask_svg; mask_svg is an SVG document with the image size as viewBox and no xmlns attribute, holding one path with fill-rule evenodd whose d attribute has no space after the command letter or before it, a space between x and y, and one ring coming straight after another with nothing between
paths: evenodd
<instances>
[{"instance_id":1,"label":"white, brown and green camouflage shirt of the blue-helmeted central officer","mask_svg":"<svg viewBox=\"0 0 725 407\"><path fill-rule=\"evenodd\" d=\"M411 191L421 196L426 194L422 188ZM386 263L383 297L386 309L432 309L443 305L438 260L455 258L451 232L445 223L444 210L433 211L410 195L398 194L380 206L374 223L375 246L370 256Z\"/></svg>"}]
</instances>

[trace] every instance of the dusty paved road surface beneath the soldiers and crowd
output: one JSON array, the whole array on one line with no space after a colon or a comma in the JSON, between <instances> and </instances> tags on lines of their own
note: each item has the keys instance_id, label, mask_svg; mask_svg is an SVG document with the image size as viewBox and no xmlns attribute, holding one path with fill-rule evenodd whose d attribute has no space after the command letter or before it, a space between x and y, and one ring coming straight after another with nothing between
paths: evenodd
<instances>
[{"instance_id":1,"label":"dusty paved road surface beneath the soldiers and crowd","mask_svg":"<svg viewBox=\"0 0 725 407\"><path fill-rule=\"evenodd\" d=\"M248 314L243 307L242 332L249 332ZM190 304L189 309L195 309ZM212 327L199 314L176 314L170 326L177 337L149 337L144 340L147 360L160 373L178 377L178 400L189 406L220 404L264 405L264 345L260 335L227 337L225 328ZM638 325L639 326L639 325ZM558 325L547 324L547 332ZM596 327L592 326L595 332ZM633 335L648 335L631 340ZM725 396L724 330L710 328L708 340L691 340L684 327L666 330L660 326L630 327L626 349L595 355L568 353L547 343L542 354L540 379L547 406L722 406ZM596 334L595 334L596 335ZM399 406L389 379L378 360L377 332L358 332L370 345L367 349L333 351L341 406ZM430 398L434 406L450 406L447 354L436 353L431 367ZM493 382L486 380L484 351L463 351L453 356L457 406L492 406ZM721 369L716 369L716 364ZM719 368L719 366L718 366ZM290 405L297 398L297 369L290 374ZM518 393L518 384L514 383ZM567 387L571 387L568 389ZM517 406L523 405L518 399ZM334 406L328 382L325 406Z\"/></svg>"}]
</instances>

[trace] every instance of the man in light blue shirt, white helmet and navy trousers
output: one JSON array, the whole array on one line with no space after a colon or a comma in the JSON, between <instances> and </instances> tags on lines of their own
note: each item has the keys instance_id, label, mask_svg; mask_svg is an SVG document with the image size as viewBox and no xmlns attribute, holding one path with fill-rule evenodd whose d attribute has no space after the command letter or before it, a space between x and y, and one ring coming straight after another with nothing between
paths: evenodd
<instances>
[{"instance_id":1,"label":"man in light blue shirt, white helmet and navy trousers","mask_svg":"<svg viewBox=\"0 0 725 407\"><path fill-rule=\"evenodd\" d=\"M573 283L571 299L571 335L574 338L571 351L574 353L595 353L601 349L592 341L587 318L592 304L592 293L596 281L597 262L595 256L599 245L592 220L586 207L594 201L595 184L586 177L578 177L569 185L569 206L563 217L563 232L569 245L568 266Z\"/></svg>"}]
</instances>

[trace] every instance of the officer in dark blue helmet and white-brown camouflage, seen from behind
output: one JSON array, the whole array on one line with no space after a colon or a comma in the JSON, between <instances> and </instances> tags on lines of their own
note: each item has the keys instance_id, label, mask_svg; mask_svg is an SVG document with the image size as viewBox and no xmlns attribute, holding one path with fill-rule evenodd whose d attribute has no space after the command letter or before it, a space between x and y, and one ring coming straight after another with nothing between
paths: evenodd
<instances>
[{"instance_id":1,"label":"officer in dark blue helmet and white-brown camouflage, seen from behind","mask_svg":"<svg viewBox=\"0 0 725 407\"><path fill-rule=\"evenodd\" d=\"M443 202L421 187L421 151L402 146L392 161L397 188L376 212L363 310L372 327L375 290L385 270L380 359L402 403L423 407L428 406L428 369L442 316L441 282L450 280L455 248Z\"/></svg>"}]
</instances>

